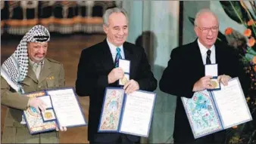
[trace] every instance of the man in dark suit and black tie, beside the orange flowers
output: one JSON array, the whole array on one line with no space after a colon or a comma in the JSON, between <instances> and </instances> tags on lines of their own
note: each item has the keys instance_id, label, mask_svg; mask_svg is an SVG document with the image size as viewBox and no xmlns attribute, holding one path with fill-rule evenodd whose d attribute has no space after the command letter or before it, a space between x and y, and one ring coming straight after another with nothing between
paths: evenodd
<instances>
[{"instance_id":1,"label":"man in dark suit and black tie, beside the orange flowers","mask_svg":"<svg viewBox=\"0 0 256 144\"><path fill-rule=\"evenodd\" d=\"M218 64L218 81L228 84L230 78L239 77L243 90L248 90L248 78L232 47L216 42L219 29L217 16L208 9L195 17L195 33L198 38L173 49L159 87L165 93L177 96L173 139L174 143L206 144L223 143L225 130L194 139L181 97L192 98L199 90L212 88L211 76L204 75L204 65Z\"/></svg>"}]
</instances>

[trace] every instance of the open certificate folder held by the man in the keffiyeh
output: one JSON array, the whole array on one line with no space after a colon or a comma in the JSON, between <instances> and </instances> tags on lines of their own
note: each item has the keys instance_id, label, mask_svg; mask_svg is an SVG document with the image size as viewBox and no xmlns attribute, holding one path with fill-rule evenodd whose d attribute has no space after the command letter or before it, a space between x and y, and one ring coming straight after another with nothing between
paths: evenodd
<instances>
[{"instance_id":1,"label":"open certificate folder held by the man in the keffiyeh","mask_svg":"<svg viewBox=\"0 0 256 144\"><path fill-rule=\"evenodd\" d=\"M24 118L31 134L55 130L57 126L87 125L73 87L44 90L29 93L27 96L30 97L32 94L46 104L46 110L40 114L32 107L24 111Z\"/></svg>"}]
</instances>

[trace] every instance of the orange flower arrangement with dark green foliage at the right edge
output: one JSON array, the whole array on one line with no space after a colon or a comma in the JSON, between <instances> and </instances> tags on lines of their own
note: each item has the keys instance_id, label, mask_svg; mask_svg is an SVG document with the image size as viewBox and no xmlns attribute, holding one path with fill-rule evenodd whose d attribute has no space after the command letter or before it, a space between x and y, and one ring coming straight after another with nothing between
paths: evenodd
<instances>
[{"instance_id":1,"label":"orange flower arrangement with dark green foliage at the right edge","mask_svg":"<svg viewBox=\"0 0 256 144\"><path fill-rule=\"evenodd\" d=\"M224 11L234 21L245 26L245 31L240 33L233 28L225 30L226 40L233 46L244 64L245 73L251 78L251 86L248 95L245 96L248 107L251 110L253 121L251 123L239 124L227 130L226 143L256 143L256 5L254 1L220 1ZM252 12L249 11L251 6ZM254 14L254 15L252 15ZM254 17L253 17L254 16ZM220 39L221 40L221 39Z\"/></svg>"}]
</instances>

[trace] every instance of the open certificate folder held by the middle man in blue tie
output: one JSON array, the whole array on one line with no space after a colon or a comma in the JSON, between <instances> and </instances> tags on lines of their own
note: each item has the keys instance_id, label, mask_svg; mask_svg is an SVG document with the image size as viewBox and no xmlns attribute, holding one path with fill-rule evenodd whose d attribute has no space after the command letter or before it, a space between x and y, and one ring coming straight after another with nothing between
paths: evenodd
<instances>
[{"instance_id":1,"label":"open certificate folder held by the middle man in blue tie","mask_svg":"<svg viewBox=\"0 0 256 144\"><path fill-rule=\"evenodd\" d=\"M120 87L106 87L98 132L127 133L148 137L156 93L136 90L124 93Z\"/></svg>"}]
</instances>

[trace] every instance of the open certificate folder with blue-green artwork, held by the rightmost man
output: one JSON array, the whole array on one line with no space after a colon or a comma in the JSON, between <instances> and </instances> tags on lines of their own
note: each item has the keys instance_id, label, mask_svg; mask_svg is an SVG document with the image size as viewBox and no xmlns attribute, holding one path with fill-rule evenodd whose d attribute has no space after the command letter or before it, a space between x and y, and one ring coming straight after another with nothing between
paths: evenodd
<instances>
[{"instance_id":1,"label":"open certificate folder with blue-green artwork, held by the rightmost man","mask_svg":"<svg viewBox=\"0 0 256 144\"><path fill-rule=\"evenodd\" d=\"M239 78L221 84L221 90L198 91L181 100L195 139L252 120Z\"/></svg>"}]
</instances>

